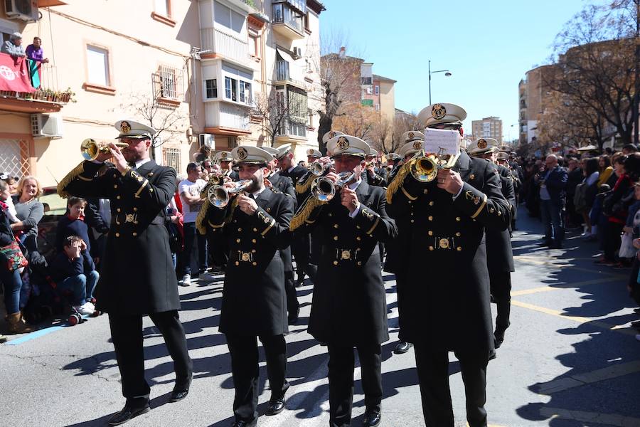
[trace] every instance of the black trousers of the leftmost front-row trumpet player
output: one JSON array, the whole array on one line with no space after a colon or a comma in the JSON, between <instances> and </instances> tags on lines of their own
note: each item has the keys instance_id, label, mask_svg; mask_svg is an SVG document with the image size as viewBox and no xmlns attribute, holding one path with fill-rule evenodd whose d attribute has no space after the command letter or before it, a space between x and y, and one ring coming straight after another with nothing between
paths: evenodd
<instances>
[{"instance_id":1,"label":"black trousers of the leftmost front-row trumpet player","mask_svg":"<svg viewBox=\"0 0 640 427\"><path fill-rule=\"evenodd\" d=\"M193 363L187 351L178 310L149 313L149 318L160 330L169 355L174 361L175 388L188 388L193 373ZM127 398L127 401L139 398L149 399L149 383L144 379L142 316L120 316L109 313L109 325L118 369L122 377L122 395Z\"/></svg>"}]
</instances>

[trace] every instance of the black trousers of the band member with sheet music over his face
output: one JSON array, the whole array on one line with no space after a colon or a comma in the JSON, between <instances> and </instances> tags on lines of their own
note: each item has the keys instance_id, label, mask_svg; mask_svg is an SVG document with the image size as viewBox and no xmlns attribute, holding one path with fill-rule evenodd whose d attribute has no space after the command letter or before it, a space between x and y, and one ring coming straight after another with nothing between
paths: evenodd
<instances>
[{"instance_id":1,"label":"black trousers of the band member with sheet music over his face","mask_svg":"<svg viewBox=\"0 0 640 427\"><path fill-rule=\"evenodd\" d=\"M429 342L415 342L415 365L422 413L427 427L454 427L454 415L449 389L449 353L434 351ZM454 352L460 362L464 393L466 395L466 421L470 427L486 427L486 365L488 350Z\"/></svg>"}]
</instances>

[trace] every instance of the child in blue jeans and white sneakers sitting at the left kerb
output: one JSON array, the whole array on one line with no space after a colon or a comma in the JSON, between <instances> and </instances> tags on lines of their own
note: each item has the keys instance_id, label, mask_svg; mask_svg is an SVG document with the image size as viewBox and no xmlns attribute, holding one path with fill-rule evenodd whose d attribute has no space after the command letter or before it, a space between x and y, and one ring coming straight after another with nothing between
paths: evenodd
<instances>
[{"instance_id":1,"label":"child in blue jeans and white sneakers sitting at the left kerb","mask_svg":"<svg viewBox=\"0 0 640 427\"><path fill-rule=\"evenodd\" d=\"M63 251L55 255L49 267L58 289L73 292L75 310L81 315L92 315L95 307L91 299L100 275L86 243L78 236L68 236L63 240Z\"/></svg>"}]
</instances>

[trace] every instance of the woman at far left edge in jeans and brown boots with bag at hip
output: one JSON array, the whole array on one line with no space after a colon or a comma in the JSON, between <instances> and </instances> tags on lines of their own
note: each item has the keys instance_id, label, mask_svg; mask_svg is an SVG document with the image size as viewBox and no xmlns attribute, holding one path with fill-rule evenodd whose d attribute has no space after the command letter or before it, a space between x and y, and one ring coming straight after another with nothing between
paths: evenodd
<instances>
[{"instance_id":1,"label":"woman at far left edge in jeans and brown boots with bag at hip","mask_svg":"<svg viewBox=\"0 0 640 427\"><path fill-rule=\"evenodd\" d=\"M0 199L9 196L9 186L5 181L0 181ZM8 209L4 202L0 201L0 247L8 246L14 241L14 233L11 232ZM6 307L6 321L9 326L9 334L22 334L31 329L22 320L20 312L20 290L22 279L20 270L9 270L9 265L3 258L0 260L0 282L4 285L4 305ZM6 339L5 339L6 340ZM0 341L2 338L0 336Z\"/></svg>"}]
</instances>

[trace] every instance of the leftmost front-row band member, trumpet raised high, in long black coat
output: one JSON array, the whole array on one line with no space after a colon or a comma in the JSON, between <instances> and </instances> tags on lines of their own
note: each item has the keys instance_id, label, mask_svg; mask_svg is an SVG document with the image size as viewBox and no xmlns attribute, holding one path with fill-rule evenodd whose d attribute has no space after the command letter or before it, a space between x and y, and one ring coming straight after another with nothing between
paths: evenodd
<instances>
[{"instance_id":1,"label":"leftmost front-row band member, trumpet raised high, in long black coat","mask_svg":"<svg viewBox=\"0 0 640 427\"><path fill-rule=\"evenodd\" d=\"M178 283L164 226L165 209L176 192L176 171L149 158L153 128L133 120L115 123L122 150L109 144L95 161L75 167L60 184L63 197L109 199L112 223L95 295L97 310L109 314L122 394L122 411L110 426L149 412L149 384L144 379L142 316L148 315L160 330L176 370L171 401L184 399L192 378L192 363L178 319ZM105 160L115 168L97 175Z\"/></svg>"}]
</instances>

